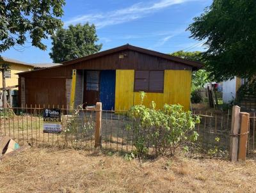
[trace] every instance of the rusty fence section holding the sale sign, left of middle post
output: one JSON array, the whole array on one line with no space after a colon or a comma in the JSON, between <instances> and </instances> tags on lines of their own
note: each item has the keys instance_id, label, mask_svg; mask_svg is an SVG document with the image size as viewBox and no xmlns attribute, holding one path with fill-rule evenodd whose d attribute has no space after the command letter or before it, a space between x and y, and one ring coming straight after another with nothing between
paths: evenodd
<instances>
[{"instance_id":1,"label":"rusty fence section holding the sale sign, left of middle post","mask_svg":"<svg viewBox=\"0 0 256 193\"><path fill-rule=\"evenodd\" d=\"M54 107L52 107L54 108ZM44 108L6 108L1 111L0 136L10 136L20 145L86 148L94 145L95 112L84 109L61 109L62 132L44 133Z\"/></svg>"}]
</instances>

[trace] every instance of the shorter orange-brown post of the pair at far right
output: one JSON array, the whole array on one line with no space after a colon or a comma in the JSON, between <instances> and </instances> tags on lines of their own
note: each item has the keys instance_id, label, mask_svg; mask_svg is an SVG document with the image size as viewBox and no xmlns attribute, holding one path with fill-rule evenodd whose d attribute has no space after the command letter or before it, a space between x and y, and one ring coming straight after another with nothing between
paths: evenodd
<instances>
[{"instance_id":1,"label":"shorter orange-brown post of the pair at far right","mask_svg":"<svg viewBox=\"0 0 256 193\"><path fill-rule=\"evenodd\" d=\"M240 119L238 161L245 162L250 114L247 112L240 112Z\"/></svg>"}]
</instances>

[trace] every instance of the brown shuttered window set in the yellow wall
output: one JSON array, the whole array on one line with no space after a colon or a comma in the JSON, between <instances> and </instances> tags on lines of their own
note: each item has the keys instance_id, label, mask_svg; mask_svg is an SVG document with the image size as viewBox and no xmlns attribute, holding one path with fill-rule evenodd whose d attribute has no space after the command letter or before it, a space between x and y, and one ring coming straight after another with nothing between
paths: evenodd
<instances>
[{"instance_id":1,"label":"brown shuttered window set in the yellow wall","mask_svg":"<svg viewBox=\"0 0 256 193\"><path fill-rule=\"evenodd\" d=\"M164 70L136 70L134 75L134 91L163 93Z\"/></svg>"}]
</instances>

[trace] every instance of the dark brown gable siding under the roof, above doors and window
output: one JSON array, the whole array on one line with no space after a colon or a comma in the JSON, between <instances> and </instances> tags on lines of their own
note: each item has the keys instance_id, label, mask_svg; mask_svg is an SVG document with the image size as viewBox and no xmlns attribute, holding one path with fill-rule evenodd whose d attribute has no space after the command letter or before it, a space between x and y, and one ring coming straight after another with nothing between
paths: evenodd
<instances>
[{"instance_id":1,"label":"dark brown gable siding under the roof, above doors and window","mask_svg":"<svg viewBox=\"0 0 256 193\"><path fill-rule=\"evenodd\" d=\"M119 58L119 55L124 58ZM132 50L116 52L107 56L81 61L74 65L56 66L29 73L21 73L21 77L52 77L72 78L72 69L77 70L192 70L191 66L170 61L168 59L150 56Z\"/></svg>"}]
</instances>

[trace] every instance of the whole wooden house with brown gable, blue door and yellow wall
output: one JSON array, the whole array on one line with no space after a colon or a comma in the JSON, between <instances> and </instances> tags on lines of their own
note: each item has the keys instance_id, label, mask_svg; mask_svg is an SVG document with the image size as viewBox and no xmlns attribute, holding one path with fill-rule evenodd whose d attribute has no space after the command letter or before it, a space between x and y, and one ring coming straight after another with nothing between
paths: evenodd
<instances>
[{"instance_id":1,"label":"whole wooden house with brown gable, blue door and yellow wall","mask_svg":"<svg viewBox=\"0 0 256 193\"><path fill-rule=\"evenodd\" d=\"M102 102L104 110L129 109L154 100L190 105L191 72L202 63L123 45L83 58L31 72L19 73L20 105L77 107Z\"/></svg>"}]
</instances>

